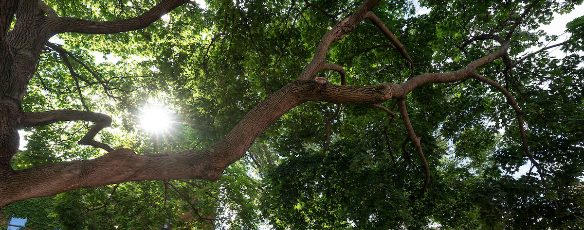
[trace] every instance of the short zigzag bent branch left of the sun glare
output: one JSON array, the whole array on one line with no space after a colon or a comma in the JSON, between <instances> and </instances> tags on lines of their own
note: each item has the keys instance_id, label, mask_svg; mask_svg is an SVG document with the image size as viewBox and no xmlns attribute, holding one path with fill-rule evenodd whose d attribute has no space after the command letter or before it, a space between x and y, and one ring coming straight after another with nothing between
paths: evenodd
<instances>
[{"instance_id":1,"label":"short zigzag bent branch left of the sun glare","mask_svg":"<svg viewBox=\"0 0 584 230\"><path fill-rule=\"evenodd\" d=\"M51 110L44 112L25 112L20 121L19 128L48 125L60 121L91 121L95 125L79 140L77 143L88 146L102 148L108 152L113 151L112 147L99 141L93 140L93 137L98 134L103 128L112 125L112 118L105 114L89 111L77 111L68 109Z\"/></svg>"}]
</instances>

